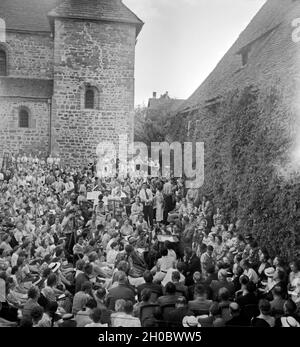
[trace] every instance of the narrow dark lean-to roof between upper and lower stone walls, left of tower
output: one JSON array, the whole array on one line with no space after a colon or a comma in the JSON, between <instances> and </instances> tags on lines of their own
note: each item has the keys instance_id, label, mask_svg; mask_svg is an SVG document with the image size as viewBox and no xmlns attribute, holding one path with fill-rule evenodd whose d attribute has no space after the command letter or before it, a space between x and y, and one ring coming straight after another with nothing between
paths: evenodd
<instances>
[{"instance_id":1,"label":"narrow dark lean-to roof between upper and lower stone walls, left of tower","mask_svg":"<svg viewBox=\"0 0 300 347\"><path fill-rule=\"evenodd\" d=\"M0 96L49 99L53 95L53 80L38 78L0 78Z\"/></svg>"}]
</instances>

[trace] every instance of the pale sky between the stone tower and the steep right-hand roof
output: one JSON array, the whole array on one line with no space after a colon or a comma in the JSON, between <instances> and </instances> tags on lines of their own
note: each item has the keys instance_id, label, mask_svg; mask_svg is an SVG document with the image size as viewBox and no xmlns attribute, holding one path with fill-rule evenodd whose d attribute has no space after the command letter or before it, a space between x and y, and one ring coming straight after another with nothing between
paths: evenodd
<instances>
[{"instance_id":1,"label":"pale sky between the stone tower and the steep right-hand roof","mask_svg":"<svg viewBox=\"0 0 300 347\"><path fill-rule=\"evenodd\" d=\"M123 0L145 23L136 46L135 104L154 91L187 99L266 0Z\"/></svg>"}]
</instances>

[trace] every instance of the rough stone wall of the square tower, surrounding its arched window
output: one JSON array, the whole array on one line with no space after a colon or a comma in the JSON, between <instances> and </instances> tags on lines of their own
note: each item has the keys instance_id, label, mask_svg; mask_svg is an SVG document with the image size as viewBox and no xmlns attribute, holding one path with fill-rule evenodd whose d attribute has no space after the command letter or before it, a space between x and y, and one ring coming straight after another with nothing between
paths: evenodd
<instances>
[{"instance_id":1,"label":"rough stone wall of the square tower, surrounding its arched window","mask_svg":"<svg viewBox=\"0 0 300 347\"><path fill-rule=\"evenodd\" d=\"M52 151L70 164L96 154L101 141L133 135L135 28L127 24L55 21ZM97 107L84 109L84 92Z\"/></svg>"}]
</instances>

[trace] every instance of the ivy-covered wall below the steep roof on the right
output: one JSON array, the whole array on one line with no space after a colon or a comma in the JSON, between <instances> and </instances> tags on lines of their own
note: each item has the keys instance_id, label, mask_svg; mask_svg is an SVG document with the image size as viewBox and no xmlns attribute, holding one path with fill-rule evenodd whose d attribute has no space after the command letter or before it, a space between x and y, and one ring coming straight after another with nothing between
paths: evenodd
<instances>
[{"instance_id":1,"label":"ivy-covered wall below the steep roof on the right","mask_svg":"<svg viewBox=\"0 0 300 347\"><path fill-rule=\"evenodd\" d=\"M298 128L292 98L283 100L279 89L249 86L224 95L215 107L175 119L169 133L173 140L187 139L190 122L188 139L205 145L201 193L228 220L240 219L242 231L273 256L292 259L300 245L300 180L282 176L278 167L289 163Z\"/></svg>"}]
</instances>

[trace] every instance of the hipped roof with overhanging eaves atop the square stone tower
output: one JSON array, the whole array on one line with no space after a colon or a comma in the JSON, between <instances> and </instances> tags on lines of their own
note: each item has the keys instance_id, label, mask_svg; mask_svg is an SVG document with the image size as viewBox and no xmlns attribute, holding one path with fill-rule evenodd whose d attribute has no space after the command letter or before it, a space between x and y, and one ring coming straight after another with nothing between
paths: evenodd
<instances>
[{"instance_id":1,"label":"hipped roof with overhanging eaves atop the square stone tower","mask_svg":"<svg viewBox=\"0 0 300 347\"><path fill-rule=\"evenodd\" d=\"M49 16L130 23L137 27L137 35L144 25L121 0L61 0Z\"/></svg>"}]
</instances>

